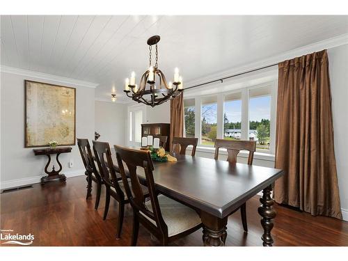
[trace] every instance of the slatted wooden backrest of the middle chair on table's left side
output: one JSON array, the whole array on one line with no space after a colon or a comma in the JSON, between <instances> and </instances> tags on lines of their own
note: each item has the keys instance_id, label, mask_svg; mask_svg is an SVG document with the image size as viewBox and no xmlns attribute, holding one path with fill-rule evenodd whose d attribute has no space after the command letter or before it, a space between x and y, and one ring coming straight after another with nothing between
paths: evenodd
<instances>
[{"instance_id":1,"label":"slatted wooden backrest of the middle chair on table's left side","mask_svg":"<svg viewBox=\"0 0 348 261\"><path fill-rule=\"evenodd\" d=\"M93 151L95 155L95 161L97 161L97 165L100 171L100 175L102 176L102 180L104 180L104 183L106 185L115 188L116 193L118 194L118 196L120 196L120 199L124 200L125 194L123 193L122 189L120 189L120 185L118 184L109 143L93 141Z\"/></svg>"}]
</instances>

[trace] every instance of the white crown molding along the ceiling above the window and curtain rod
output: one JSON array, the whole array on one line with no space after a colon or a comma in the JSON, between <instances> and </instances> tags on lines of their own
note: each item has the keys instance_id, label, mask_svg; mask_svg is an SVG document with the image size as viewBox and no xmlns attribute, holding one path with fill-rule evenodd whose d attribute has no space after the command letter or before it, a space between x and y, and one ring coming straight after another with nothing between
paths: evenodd
<instances>
[{"instance_id":1,"label":"white crown molding along the ceiling above the window and curtain rod","mask_svg":"<svg viewBox=\"0 0 348 261\"><path fill-rule=\"evenodd\" d=\"M292 58L297 57L297 56L302 56L302 55L310 54L313 52L319 52L319 51L322 51L323 49L331 49L334 47L338 47L341 45L347 45L347 44L348 44L348 33L345 33L345 34L338 35L338 36L333 37L333 38L329 38L326 40L315 42L315 43L310 44L310 45L305 45L303 47L292 49L290 51L283 52L282 54L278 54L278 55L272 56L270 58L266 58L266 59L256 61L253 63L244 64L244 65L241 65L241 66L238 66L235 68L223 70L221 72L209 74L207 77L200 77L199 79L193 79L191 81L187 81L185 86L189 87L189 86L194 86L196 84L203 84L207 81L212 81L214 79L221 79L223 77L228 77L232 74L238 74L241 72L246 72L248 70L255 70L255 69L267 66L267 65L280 63L282 61L292 59ZM274 67L264 69L260 72L267 72L269 70L278 70L278 68L276 68L276 65L275 65ZM224 81L229 81L229 79L226 79Z\"/></svg>"}]
</instances>

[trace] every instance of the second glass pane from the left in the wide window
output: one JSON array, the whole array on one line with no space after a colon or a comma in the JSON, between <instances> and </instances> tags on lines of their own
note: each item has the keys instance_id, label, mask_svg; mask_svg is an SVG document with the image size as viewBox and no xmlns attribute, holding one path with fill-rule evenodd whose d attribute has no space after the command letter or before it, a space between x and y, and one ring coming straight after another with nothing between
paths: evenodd
<instances>
[{"instance_id":1,"label":"second glass pane from the left in the wide window","mask_svg":"<svg viewBox=\"0 0 348 261\"><path fill-rule=\"evenodd\" d=\"M217 131L217 97L202 98L200 109L201 119L201 141L200 144L214 146Z\"/></svg>"}]
</instances>

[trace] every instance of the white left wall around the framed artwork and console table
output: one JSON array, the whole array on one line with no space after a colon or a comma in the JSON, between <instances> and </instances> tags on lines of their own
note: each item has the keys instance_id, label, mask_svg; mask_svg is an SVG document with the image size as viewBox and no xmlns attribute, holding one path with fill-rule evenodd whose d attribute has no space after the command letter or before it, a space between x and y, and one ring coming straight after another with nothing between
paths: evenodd
<instances>
[{"instance_id":1,"label":"white left wall around the framed artwork and console table","mask_svg":"<svg viewBox=\"0 0 348 261\"><path fill-rule=\"evenodd\" d=\"M24 148L24 79L67 86L58 81L1 72L1 188L39 182L47 162L45 156L34 156L33 148ZM76 136L94 139L95 89L70 87L76 88ZM67 176L84 174L77 145L59 159ZM74 162L72 168L68 168L70 159Z\"/></svg>"}]
</instances>

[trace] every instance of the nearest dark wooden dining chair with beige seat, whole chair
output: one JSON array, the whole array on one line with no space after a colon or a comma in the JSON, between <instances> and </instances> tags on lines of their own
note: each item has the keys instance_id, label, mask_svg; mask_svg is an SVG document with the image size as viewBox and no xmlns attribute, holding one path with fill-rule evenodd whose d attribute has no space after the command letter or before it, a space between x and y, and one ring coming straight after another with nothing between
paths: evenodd
<instances>
[{"instance_id":1,"label":"nearest dark wooden dining chair with beige seat, whole chair","mask_svg":"<svg viewBox=\"0 0 348 261\"><path fill-rule=\"evenodd\" d=\"M150 152L122 148L118 145L114 147L120 174L125 184L125 191L133 207L132 246L136 246L139 223L150 230L151 234L157 237L164 246L202 227L200 216L195 210L164 195L159 195L152 174L154 166ZM132 187L127 182L123 162L125 162L129 171ZM150 193L150 200L148 201L145 201L145 196L141 190L137 175L139 168L142 168L145 173L146 184Z\"/></svg>"}]
</instances>

